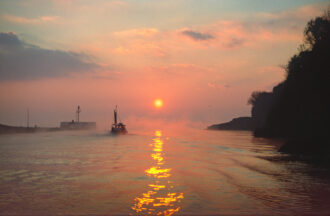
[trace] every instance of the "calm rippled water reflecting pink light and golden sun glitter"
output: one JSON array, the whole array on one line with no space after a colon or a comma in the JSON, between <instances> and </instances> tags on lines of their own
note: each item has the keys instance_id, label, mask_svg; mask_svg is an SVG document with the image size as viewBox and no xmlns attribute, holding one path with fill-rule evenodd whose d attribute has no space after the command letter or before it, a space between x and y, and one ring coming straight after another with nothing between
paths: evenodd
<instances>
[{"instance_id":1,"label":"calm rippled water reflecting pink light and golden sun glitter","mask_svg":"<svg viewBox=\"0 0 330 216\"><path fill-rule=\"evenodd\" d=\"M0 136L1 215L330 214L330 173L250 132Z\"/></svg>"}]
</instances>

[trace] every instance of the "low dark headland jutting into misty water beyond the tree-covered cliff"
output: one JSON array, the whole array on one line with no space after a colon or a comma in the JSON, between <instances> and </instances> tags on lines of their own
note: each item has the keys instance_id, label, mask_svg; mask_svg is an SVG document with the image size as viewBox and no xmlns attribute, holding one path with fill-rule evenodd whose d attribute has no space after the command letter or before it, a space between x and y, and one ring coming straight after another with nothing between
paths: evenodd
<instances>
[{"instance_id":1,"label":"low dark headland jutting into misty water beyond the tree-covered cliff","mask_svg":"<svg viewBox=\"0 0 330 216\"><path fill-rule=\"evenodd\" d=\"M248 130L253 131L255 123L251 117L234 118L230 122L209 126L209 130Z\"/></svg>"}]
</instances>

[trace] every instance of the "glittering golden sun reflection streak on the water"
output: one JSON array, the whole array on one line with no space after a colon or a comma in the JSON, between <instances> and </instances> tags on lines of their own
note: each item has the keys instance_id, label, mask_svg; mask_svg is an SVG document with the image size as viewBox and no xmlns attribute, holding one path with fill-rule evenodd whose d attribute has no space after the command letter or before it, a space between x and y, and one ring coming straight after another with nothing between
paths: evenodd
<instances>
[{"instance_id":1,"label":"glittering golden sun reflection streak on the water","mask_svg":"<svg viewBox=\"0 0 330 216\"><path fill-rule=\"evenodd\" d=\"M169 180L171 168L165 167L162 132L156 131L153 139L151 158L155 163L145 174L153 179L149 191L134 199L132 206L137 215L170 216L178 212L180 202L184 198L182 192L175 192L173 183Z\"/></svg>"}]
</instances>

